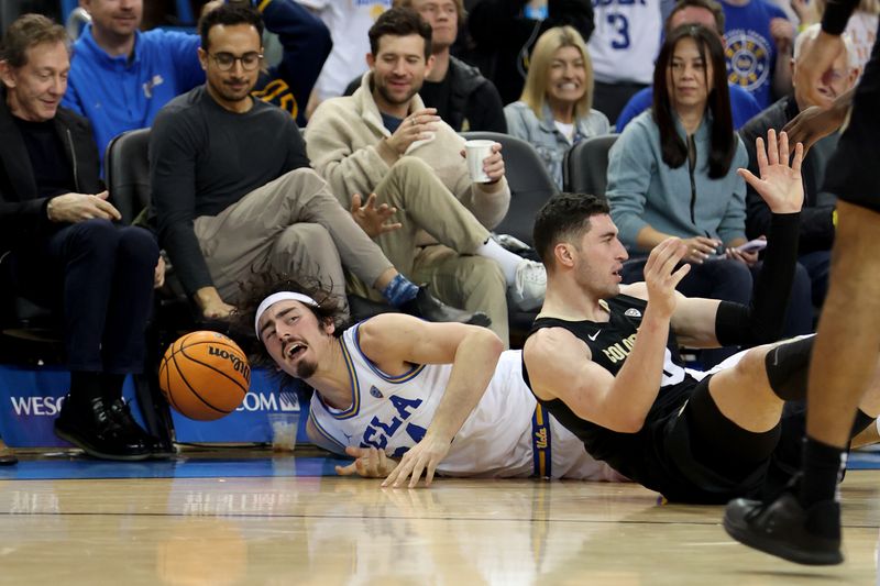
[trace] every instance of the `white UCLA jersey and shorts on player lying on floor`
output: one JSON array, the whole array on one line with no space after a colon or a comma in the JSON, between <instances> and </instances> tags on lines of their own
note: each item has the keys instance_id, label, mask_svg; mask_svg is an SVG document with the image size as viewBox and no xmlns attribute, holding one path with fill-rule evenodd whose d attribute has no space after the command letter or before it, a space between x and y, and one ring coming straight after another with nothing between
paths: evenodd
<instances>
[{"instance_id":1,"label":"white UCLA jersey and shorts on player lying on floor","mask_svg":"<svg viewBox=\"0 0 880 586\"><path fill-rule=\"evenodd\" d=\"M326 405L312 395L309 417L340 452L345 446L373 446L399 458L419 442L443 397L451 364L413 366L391 376L361 352L359 325L340 343L349 367L352 402L348 409ZM502 354L480 403L452 441L438 466L451 476L618 479L605 464L586 454L583 443L543 409L522 380L521 353ZM537 446L537 449L535 449Z\"/></svg>"}]
</instances>

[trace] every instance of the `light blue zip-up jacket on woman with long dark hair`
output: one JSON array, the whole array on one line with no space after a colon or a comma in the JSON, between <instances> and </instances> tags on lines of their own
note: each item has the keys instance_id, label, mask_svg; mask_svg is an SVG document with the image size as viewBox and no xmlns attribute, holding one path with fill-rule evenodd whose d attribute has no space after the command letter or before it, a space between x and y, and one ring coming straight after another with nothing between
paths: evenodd
<instances>
[{"instance_id":1,"label":"light blue zip-up jacket on woman with long dark hair","mask_svg":"<svg viewBox=\"0 0 880 586\"><path fill-rule=\"evenodd\" d=\"M694 134L693 191L686 162L675 169L663 163L660 129L650 110L632 120L614 143L608 154L606 197L620 240L628 248L636 250L636 235L647 225L675 236L710 236L724 243L746 237L746 183L736 173L738 167L748 166L746 147L737 137L727 175L711 179L711 124L707 114ZM675 128L686 140L678 120Z\"/></svg>"}]
</instances>

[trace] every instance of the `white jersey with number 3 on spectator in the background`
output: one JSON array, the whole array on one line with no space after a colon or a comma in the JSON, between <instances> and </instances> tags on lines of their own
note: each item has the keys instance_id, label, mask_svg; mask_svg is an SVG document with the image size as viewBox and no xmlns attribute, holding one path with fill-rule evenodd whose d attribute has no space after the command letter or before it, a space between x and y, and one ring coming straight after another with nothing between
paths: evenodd
<instances>
[{"instance_id":1,"label":"white jersey with number 3 on spectator in the background","mask_svg":"<svg viewBox=\"0 0 880 586\"><path fill-rule=\"evenodd\" d=\"M651 84L663 19L660 0L593 0L587 48L598 81Z\"/></svg>"}]
</instances>

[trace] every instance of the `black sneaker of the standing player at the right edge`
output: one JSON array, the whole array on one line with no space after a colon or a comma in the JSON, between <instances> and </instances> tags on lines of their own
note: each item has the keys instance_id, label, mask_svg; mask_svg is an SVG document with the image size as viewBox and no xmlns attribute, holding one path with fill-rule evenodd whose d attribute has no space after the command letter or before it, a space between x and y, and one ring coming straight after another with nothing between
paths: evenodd
<instances>
[{"instance_id":1,"label":"black sneaker of the standing player at the right edge","mask_svg":"<svg viewBox=\"0 0 880 586\"><path fill-rule=\"evenodd\" d=\"M790 491L769 502L738 498L727 504L724 529L738 542L790 562L833 565L844 561L840 505L835 500L804 510Z\"/></svg>"}]
</instances>

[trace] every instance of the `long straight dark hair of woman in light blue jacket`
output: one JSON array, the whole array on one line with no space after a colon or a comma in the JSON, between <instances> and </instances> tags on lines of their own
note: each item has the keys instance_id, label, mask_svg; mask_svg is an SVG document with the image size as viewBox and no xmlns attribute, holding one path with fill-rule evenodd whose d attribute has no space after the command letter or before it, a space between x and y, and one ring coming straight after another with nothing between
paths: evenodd
<instances>
[{"instance_id":1,"label":"long straight dark hair of woman in light blue jacket","mask_svg":"<svg viewBox=\"0 0 880 586\"><path fill-rule=\"evenodd\" d=\"M675 130L675 117L669 98L669 68L675 45L683 38L693 38L700 49L703 63L712 64L712 91L707 96L706 109L712 112L711 147L708 154L708 176L718 179L727 175L736 155L737 139L730 113L730 92L727 89L727 64L724 58L724 46L714 32L700 24L682 24L669 36L660 47L660 55L653 69L653 108L652 115L660 131L660 150L663 163L673 169L688 161L688 145ZM704 69L704 74L707 70ZM705 74L708 87L708 74Z\"/></svg>"}]
</instances>

